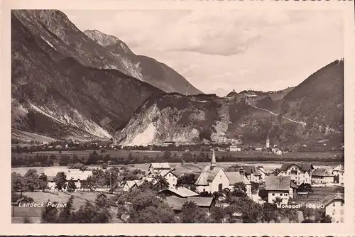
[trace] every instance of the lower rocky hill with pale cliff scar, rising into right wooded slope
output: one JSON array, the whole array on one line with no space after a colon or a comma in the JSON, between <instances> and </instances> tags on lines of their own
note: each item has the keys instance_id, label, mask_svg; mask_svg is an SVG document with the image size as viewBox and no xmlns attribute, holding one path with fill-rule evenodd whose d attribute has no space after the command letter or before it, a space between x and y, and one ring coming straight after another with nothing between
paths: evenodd
<instances>
[{"instance_id":1,"label":"lower rocky hill with pale cliff scar, rising into right wooded slope","mask_svg":"<svg viewBox=\"0 0 355 237\"><path fill-rule=\"evenodd\" d=\"M344 140L343 70L342 60L334 61L297 87L278 92L231 92L224 98L163 94L148 99L114 140L121 145L159 145L165 140L200 143L222 137L264 144L269 136L280 145L324 139L339 145Z\"/></svg>"}]
</instances>

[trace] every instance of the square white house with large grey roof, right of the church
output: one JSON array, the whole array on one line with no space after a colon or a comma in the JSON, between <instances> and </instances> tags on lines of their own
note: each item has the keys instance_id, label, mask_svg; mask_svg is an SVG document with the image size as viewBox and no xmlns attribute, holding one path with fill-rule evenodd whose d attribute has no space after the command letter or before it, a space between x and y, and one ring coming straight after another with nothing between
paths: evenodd
<instances>
[{"instance_id":1,"label":"square white house with large grey roof, right of the church","mask_svg":"<svg viewBox=\"0 0 355 237\"><path fill-rule=\"evenodd\" d=\"M297 185L291 181L290 176L266 177L265 189L268 192L269 203L273 203L278 197L282 200L282 204L288 204L288 200L297 195Z\"/></svg>"}]
</instances>

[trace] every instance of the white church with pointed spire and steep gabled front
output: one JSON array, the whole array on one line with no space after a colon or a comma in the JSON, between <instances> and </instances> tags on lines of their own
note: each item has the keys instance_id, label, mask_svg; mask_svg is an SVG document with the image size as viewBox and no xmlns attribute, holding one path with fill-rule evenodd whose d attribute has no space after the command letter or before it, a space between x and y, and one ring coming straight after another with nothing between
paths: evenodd
<instances>
[{"instance_id":1,"label":"white church with pointed spire and steep gabled front","mask_svg":"<svg viewBox=\"0 0 355 237\"><path fill-rule=\"evenodd\" d=\"M246 186L246 194L251 197L251 184L243 172L225 172L222 167L217 166L214 150L212 153L211 165L207 165L197 178L195 186L197 192L222 192L224 189L233 189L234 184L243 182Z\"/></svg>"}]
</instances>

